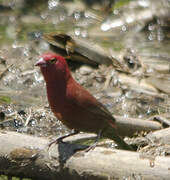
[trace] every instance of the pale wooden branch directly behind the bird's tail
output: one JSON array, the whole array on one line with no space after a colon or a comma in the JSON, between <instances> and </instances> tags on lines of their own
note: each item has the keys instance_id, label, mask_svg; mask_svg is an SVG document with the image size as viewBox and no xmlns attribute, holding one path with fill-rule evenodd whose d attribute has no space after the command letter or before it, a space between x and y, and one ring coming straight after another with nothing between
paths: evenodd
<instances>
[{"instance_id":1,"label":"pale wooden branch directly behind the bird's tail","mask_svg":"<svg viewBox=\"0 0 170 180\"><path fill-rule=\"evenodd\" d=\"M162 125L155 121L137 119L137 118L125 118L122 116L114 116L118 127L119 135L121 136L133 136L136 132L141 131L155 131L162 128Z\"/></svg>"}]
</instances>

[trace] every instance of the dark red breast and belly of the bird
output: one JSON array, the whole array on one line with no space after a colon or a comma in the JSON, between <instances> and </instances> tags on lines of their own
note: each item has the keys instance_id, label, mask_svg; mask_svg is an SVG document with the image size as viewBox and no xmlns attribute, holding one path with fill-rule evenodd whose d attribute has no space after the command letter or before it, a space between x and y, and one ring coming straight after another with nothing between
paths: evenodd
<instances>
[{"instance_id":1,"label":"dark red breast and belly of the bird","mask_svg":"<svg viewBox=\"0 0 170 180\"><path fill-rule=\"evenodd\" d=\"M96 133L106 126L106 121L102 116L89 111L89 107L84 108L72 102L64 92L57 93L50 88L47 95L52 112L68 128Z\"/></svg>"}]
</instances>

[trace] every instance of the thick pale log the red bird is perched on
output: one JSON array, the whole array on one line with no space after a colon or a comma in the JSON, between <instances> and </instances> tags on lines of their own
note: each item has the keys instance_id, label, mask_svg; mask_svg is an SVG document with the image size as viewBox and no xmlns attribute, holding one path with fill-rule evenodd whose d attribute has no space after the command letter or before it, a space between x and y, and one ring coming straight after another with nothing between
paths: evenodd
<instances>
[{"instance_id":1,"label":"thick pale log the red bird is perched on","mask_svg":"<svg viewBox=\"0 0 170 180\"><path fill-rule=\"evenodd\" d=\"M103 147L75 153L77 148L84 147L65 142L48 149L48 143L45 138L0 131L0 172L43 180L168 180L170 177L170 158L167 157L148 158L137 152Z\"/></svg>"}]
</instances>

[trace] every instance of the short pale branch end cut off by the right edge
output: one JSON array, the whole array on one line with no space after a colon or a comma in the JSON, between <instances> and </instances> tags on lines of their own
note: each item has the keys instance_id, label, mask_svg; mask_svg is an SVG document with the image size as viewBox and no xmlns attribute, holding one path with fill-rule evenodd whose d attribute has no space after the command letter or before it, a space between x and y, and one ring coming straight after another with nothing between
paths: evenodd
<instances>
[{"instance_id":1,"label":"short pale branch end cut off by the right edge","mask_svg":"<svg viewBox=\"0 0 170 180\"><path fill-rule=\"evenodd\" d=\"M159 142L163 144L170 144L170 128L161 129L150 133L147 138L152 142Z\"/></svg>"}]
</instances>

